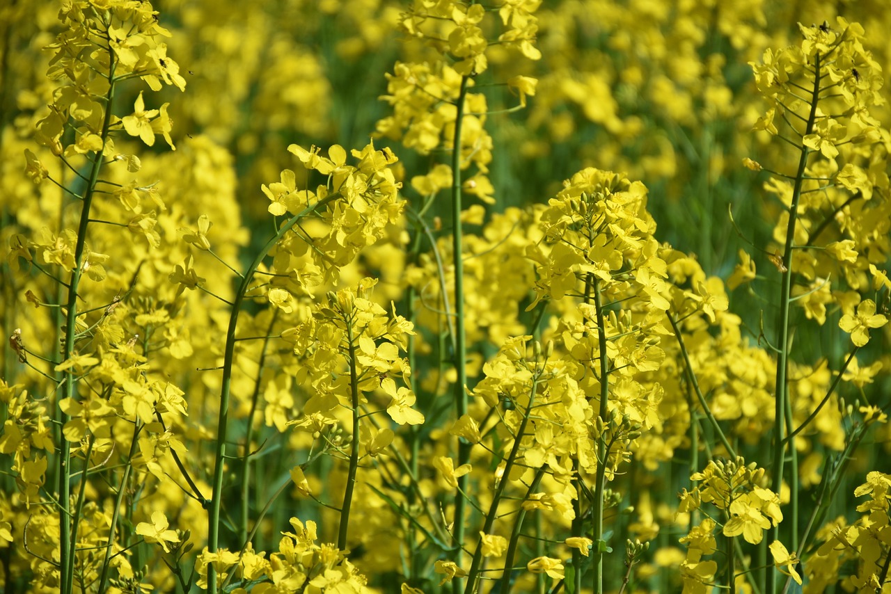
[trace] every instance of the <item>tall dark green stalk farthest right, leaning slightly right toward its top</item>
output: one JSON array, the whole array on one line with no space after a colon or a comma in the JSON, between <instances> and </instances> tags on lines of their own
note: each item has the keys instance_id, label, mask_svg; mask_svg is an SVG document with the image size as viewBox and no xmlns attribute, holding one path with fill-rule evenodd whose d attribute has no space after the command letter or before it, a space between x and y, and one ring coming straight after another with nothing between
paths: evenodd
<instances>
[{"instance_id":1,"label":"tall dark green stalk farthest right, leaning slightly right toward its top","mask_svg":"<svg viewBox=\"0 0 891 594\"><path fill-rule=\"evenodd\" d=\"M811 95L811 110L807 117L805 126L805 134L813 132L813 124L817 116L817 103L820 101L820 53L814 56L813 61L813 92ZM792 250L795 247L795 227L798 220L798 201L801 199L801 188L804 184L805 168L807 167L807 159L811 154L811 150L806 146L801 147L801 156L798 159L798 171L795 175L795 185L792 190L792 201L789 206L789 224L786 227L786 245L783 248L783 270L780 284L780 319L777 326L777 335L779 340L776 343L779 349L777 360L777 377L774 387L776 392L776 406L774 408L773 420L773 472L772 472L772 489L773 492L781 492L783 477L783 462L785 460L785 450L789 447L795 450L795 439L792 438L788 443L784 443L786 429L786 403L789 399L789 305L792 293ZM798 493L789 493L791 500L797 499ZM797 530L793 527L793 530ZM772 532L768 535L770 542L780 538L780 526L773 527ZM768 542L768 546L770 546ZM774 566L767 567L767 594L773 594L776 591L776 568Z\"/></svg>"}]
</instances>

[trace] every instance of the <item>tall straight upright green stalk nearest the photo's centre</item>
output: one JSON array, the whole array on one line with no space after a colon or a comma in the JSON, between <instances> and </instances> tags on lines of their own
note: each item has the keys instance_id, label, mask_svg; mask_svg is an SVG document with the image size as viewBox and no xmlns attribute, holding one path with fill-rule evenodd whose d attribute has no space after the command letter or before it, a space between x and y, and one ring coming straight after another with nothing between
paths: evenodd
<instances>
[{"instance_id":1,"label":"tall straight upright green stalk nearest the photo's centre","mask_svg":"<svg viewBox=\"0 0 891 594\"><path fill-rule=\"evenodd\" d=\"M454 260L454 369L457 378L454 383L455 413L460 419L467 414L467 337L464 332L464 256L463 233L461 223L461 133L464 119L464 100L467 97L467 86L470 77L461 78L461 88L458 92L458 102L454 117L454 141L452 148L452 259ZM443 298L446 298L444 295ZM464 443L461 437L458 440L458 466L470 461L470 443ZM467 502L462 493L468 492L470 476L458 477L458 489L454 496L454 541L458 545L455 563L462 565L462 551L464 547L464 509ZM487 533L487 532L486 532ZM477 548L479 550L479 547ZM476 556L474 557L476 559ZM453 581L455 594L461 591L460 578ZM472 583L472 577L471 582Z\"/></svg>"}]
</instances>

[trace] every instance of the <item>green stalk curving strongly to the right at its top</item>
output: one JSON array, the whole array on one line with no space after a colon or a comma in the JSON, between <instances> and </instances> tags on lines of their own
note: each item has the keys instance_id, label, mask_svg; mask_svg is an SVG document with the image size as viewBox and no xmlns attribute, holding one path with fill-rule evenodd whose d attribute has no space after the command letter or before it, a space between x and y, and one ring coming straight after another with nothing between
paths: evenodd
<instances>
[{"instance_id":1,"label":"green stalk curving strongly to the right at its top","mask_svg":"<svg viewBox=\"0 0 891 594\"><path fill-rule=\"evenodd\" d=\"M239 284L238 290L235 292L232 313L229 316L229 326L226 329L225 352L223 356L223 380L222 386L220 387L219 419L217 419L217 449L214 458L214 484L213 494L210 496L210 513L208 514L208 553L216 553L219 548L220 506L223 500L223 469L225 466L225 440L226 429L229 422L229 400L232 387L233 361L235 358L235 329L238 326L241 303L244 301L244 296L248 291L250 281L254 278L254 273L257 272L257 267L263 262L270 250L272 250L272 248L282 240L282 237L290 231L291 227L297 224L304 216L314 212L316 208L337 198L341 198L339 192L330 194L316 202L313 206L306 207L297 215L291 216L285 224L282 224L282 228L279 229L279 232L275 233L275 235L266 242L266 246L257 252L257 256L254 257L247 272L241 278L241 283ZM210 594L217 594L217 570L214 568L213 564L208 565L208 592Z\"/></svg>"}]
</instances>

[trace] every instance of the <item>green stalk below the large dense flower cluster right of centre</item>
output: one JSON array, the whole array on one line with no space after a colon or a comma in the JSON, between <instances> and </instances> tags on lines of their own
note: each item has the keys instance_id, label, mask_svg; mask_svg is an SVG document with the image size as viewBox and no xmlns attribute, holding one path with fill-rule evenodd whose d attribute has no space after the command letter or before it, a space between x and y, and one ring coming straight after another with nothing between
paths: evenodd
<instances>
[{"instance_id":1,"label":"green stalk below the large dense flower cluster right of centre","mask_svg":"<svg viewBox=\"0 0 891 594\"><path fill-rule=\"evenodd\" d=\"M601 282L596 276L593 278L592 286L594 289L594 311L597 315L597 341L600 348L601 356L601 410L598 412L599 418L606 423L609 417L609 359L607 359L607 337L605 330L606 323L603 320L603 298L601 296ZM606 435L599 435L597 439L597 474L594 479L594 510L593 510L593 590L594 594L601 594L603 591L603 552L605 543L603 542L603 496L606 492L606 476L607 476L607 438ZM577 571L577 569L576 569ZM579 590L576 590L578 592Z\"/></svg>"}]
</instances>

